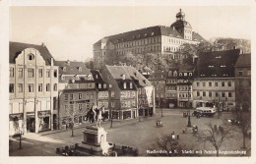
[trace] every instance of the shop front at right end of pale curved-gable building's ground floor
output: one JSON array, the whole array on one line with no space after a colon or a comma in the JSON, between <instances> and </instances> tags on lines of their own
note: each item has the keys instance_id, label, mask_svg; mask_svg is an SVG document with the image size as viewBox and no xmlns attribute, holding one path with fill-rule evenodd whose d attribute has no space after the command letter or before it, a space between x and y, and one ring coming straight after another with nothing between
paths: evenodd
<instances>
[{"instance_id":1,"label":"shop front at right end of pale curved-gable building's ground floor","mask_svg":"<svg viewBox=\"0 0 256 164\"><path fill-rule=\"evenodd\" d=\"M51 116L50 110L38 111L37 116L38 116L38 123L39 123L38 132L49 131L51 127L50 126L50 116Z\"/></svg>"}]
</instances>

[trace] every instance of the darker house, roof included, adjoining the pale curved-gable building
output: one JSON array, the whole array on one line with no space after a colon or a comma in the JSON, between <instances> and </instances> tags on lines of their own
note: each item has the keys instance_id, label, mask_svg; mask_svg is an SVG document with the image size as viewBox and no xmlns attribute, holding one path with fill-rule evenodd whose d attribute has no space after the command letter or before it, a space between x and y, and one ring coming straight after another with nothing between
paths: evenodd
<instances>
[{"instance_id":1,"label":"darker house, roof included, adjoining the pale curved-gable building","mask_svg":"<svg viewBox=\"0 0 256 164\"><path fill-rule=\"evenodd\" d=\"M59 66L59 124L86 121L87 112L97 104L96 83L83 62L56 61Z\"/></svg>"}]
</instances>

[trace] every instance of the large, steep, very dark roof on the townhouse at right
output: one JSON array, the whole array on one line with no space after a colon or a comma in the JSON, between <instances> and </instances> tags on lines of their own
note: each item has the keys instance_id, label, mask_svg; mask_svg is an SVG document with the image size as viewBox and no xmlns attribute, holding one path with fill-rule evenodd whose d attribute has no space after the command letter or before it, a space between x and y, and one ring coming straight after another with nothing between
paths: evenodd
<instances>
[{"instance_id":1,"label":"large, steep, very dark roof on the townhouse at right","mask_svg":"<svg viewBox=\"0 0 256 164\"><path fill-rule=\"evenodd\" d=\"M234 77L234 65L239 53L239 49L231 49L199 54L195 78Z\"/></svg>"}]
</instances>

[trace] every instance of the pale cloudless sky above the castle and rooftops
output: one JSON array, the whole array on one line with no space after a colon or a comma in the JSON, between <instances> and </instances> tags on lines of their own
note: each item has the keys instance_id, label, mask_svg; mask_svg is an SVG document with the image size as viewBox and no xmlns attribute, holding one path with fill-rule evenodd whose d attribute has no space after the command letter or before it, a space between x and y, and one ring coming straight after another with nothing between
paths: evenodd
<instances>
[{"instance_id":1,"label":"pale cloudless sky above the castle and rooftops","mask_svg":"<svg viewBox=\"0 0 256 164\"><path fill-rule=\"evenodd\" d=\"M47 46L55 60L85 61L100 38L129 30L170 26L179 9L204 38L250 39L246 6L11 7L10 41Z\"/></svg>"}]
</instances>

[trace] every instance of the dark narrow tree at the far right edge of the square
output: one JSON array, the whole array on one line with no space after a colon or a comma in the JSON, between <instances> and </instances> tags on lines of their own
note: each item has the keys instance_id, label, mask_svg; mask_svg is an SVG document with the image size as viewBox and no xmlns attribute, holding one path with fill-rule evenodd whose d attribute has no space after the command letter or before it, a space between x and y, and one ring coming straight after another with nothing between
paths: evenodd
<instances>
[{"instance_id":1,"label":"dark narrow tree at the far right edge of the square","mask_svg":"<svg viewBox=\"0 0 256 164\"><path fill-rule=\"evenodd\" d=\"M236 110L233 112L233 120L235 120L238 132L242 134L242 148L245 149L245 138L251 128L251 113L249 111Z\"/></svg>"}]
</instances>

